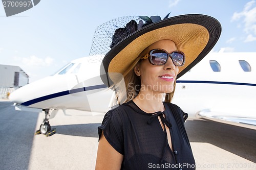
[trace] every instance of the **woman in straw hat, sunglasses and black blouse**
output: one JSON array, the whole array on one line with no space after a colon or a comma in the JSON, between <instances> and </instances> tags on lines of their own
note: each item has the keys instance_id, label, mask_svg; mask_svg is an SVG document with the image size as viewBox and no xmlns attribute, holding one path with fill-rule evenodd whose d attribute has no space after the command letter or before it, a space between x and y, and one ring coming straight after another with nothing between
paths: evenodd
<instances>
[{"instance_id":1,"label":"woman in straw hat, sunglasses and black blouse","mask_svg":"<svg viewBox=\"0 0 256 170\"><path fill-rule=\"evenodd\" d=\"M124 103L106 113L98 128L96 169L195 169L187 114L170 102L176 79L219 39L220 23L197 14L140 18L146 22L132 20L115 31L102 60L104 84L116 89L122 75L125 90L117 91Z\"/></svg>"}]
</instances>

